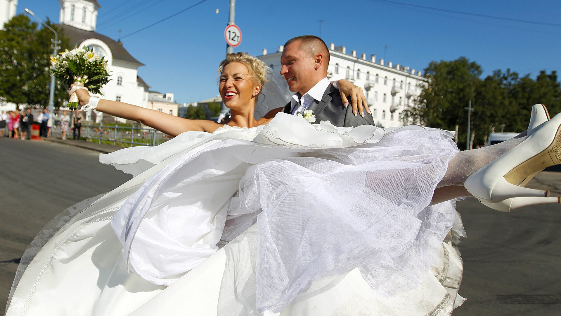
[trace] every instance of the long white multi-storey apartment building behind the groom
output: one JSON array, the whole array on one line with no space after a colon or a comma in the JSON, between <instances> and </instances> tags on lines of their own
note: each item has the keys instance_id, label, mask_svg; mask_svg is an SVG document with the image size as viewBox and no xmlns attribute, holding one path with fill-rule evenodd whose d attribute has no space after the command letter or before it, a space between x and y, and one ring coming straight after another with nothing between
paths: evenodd
<instances>
[{"instance_id":1,"label":"long white multi-storey apartment building behind the groom","mask_svg":"<svg viewBox=\"0 0 561 316\"><path fill-rule=\"evenodd\" d=\"M280 72L282 51L283 46L270 54L263 49L263 55L257 58L273 68L276 74ZM376 60L376 55L366 58L365 53L360 57L356 51L348 54L346 47L335 47L333 43L329 44L329 54L329 80L347 79L363 88L377 126L403 125L402 111L419 96L419 84L427 81L421 76L421 71L391 61L385 63L383 59Z\"/></svg>"}]
</instances>

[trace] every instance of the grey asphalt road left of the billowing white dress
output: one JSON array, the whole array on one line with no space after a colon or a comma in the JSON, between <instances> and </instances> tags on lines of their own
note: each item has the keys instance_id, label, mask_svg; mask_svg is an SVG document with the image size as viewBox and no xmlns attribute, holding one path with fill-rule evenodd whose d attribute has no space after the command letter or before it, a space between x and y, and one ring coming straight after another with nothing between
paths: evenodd
<instances>
[{"instance_id":1,"label":"grey asphalt road left of the billowing white dress","mask_svg":"<svg viewBox=\"0 0 561 316\"><path fill-rule=\"evenodd\" d=\"M98 155L47 141L0 138L0 315L16 261L40 229L77 202L131 179L100 164Z\"/></svg>"}]
</instances>

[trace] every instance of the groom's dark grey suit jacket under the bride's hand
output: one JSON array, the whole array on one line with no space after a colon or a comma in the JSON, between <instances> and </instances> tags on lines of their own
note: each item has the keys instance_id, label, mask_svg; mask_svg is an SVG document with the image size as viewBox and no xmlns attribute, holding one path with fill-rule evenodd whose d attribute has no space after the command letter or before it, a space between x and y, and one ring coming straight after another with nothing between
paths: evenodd
<instances>
[{"instance_id":1,"label":"groom's dark grey suit jacket under the bride's hand","mask_svg":"<svg viewBox=\"0 0 561 316\"><path fill-rule=\"evenodd\" d=\"M288 102L284 106L283 112L291 113L291 102ZM310 105L309 110L314 112L316 116L316 124L320 121L330 121L331 124L338 127L357 127L358 125L374 125L374 119L372 115L367 112L364 113L365 117L352 113L352 106L348 106L347 109L343 106L343 101L341 100L341 94L333 85L329 85L321 101L314 100Z\"/></svg>"}]
</instances>

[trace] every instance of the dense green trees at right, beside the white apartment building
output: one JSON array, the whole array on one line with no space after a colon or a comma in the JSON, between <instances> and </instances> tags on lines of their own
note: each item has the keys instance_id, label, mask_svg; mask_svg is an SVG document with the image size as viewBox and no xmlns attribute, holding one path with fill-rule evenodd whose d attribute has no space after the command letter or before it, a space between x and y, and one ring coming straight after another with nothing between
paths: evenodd
<instances>
[{"instance_id":1,"label":"dense green trees at right, beside the white apartment building","mask_svg":"<svg viewBox=\"0 0 561 316\"><path fill-rule=\"evenodd\" d=\"M473 146L485 145L493 132L525 130L536 103L544 103L552 116L561 111L561 86L555 71L540 71L536 80L510 69L495 70L485 79L481 74L481 66L466 57L430 62L425 69L429 82L421 86L420 96L403 118L427 127L457 128L458 146L465 148L470 100Z\"/></svg>"}]
</instances>

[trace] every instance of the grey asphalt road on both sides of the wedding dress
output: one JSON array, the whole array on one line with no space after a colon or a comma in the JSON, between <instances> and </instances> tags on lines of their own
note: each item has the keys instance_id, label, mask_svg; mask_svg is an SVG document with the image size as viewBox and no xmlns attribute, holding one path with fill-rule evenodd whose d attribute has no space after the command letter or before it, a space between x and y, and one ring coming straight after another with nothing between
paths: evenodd
<instances>
[{"instance_id":1,"label":"grey asphalt road on both sides of the wedding dress","mask_svg":"<svg viewBox=\"0 0 561 316\"><path fill-rule=\"evenodd\" d=\"M0 139L0 312L16 261L43 225L130 179L97 156L57 143ZM561 173L541 173L529 186L561 195ZM458 245L459 293L467 301L452 315L561 315L561 205L500 213L468 198L458 211L467 232Z\"/></svg>"}]
</instances>

